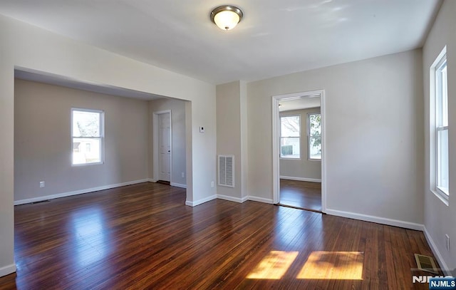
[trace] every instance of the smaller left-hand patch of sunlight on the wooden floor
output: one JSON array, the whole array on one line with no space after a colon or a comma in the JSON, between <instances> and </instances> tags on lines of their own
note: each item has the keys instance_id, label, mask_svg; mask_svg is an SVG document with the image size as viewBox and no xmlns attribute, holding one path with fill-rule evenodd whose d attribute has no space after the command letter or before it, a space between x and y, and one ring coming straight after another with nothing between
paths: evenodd
<instances>
[{"instance_id":1,"label":"smaller left-hand patch of sunlight on the wooden floor","mask_svg":"<svg viewBox=\"0 0 456 290\"><path fill-rule=\"evenodd\" d=\"M271 251L247 276L248 279L281 279L299 252Z\"/></svg>"}]
</instances>

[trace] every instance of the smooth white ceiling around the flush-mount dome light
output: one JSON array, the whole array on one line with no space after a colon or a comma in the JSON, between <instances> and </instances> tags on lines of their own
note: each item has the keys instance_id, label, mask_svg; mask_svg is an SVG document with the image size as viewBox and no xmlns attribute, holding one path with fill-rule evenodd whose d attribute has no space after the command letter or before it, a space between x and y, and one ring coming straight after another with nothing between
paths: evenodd
<instances>
[{"instance_id":1,"label":"smooth white ceiling around the flush-mount dome light","mask_svg":"<svg viewBox=\"0 0 456 290\"><path fill-rule=\"evenodd\" d=\"M209 20L234 4L231 31ZM202 81L254 81L422 46L440 0L1 0L0 14Z\"/></svg>"}]
</instances>

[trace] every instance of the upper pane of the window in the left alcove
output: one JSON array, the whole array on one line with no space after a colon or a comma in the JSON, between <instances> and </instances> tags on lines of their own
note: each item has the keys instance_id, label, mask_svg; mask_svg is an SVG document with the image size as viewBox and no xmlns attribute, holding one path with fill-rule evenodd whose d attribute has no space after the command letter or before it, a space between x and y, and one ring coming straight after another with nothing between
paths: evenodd
<instances>
[{"instance_id":1,"label":"upper pane of the window in the left alcove","mask_svg":"<svg viewBox=\"0 0 456 290\"><path fill-rule=\"evenodd\" d=\"M73 110L73 137L101 137L100 113Z\"/></svg>"}]
</instances>

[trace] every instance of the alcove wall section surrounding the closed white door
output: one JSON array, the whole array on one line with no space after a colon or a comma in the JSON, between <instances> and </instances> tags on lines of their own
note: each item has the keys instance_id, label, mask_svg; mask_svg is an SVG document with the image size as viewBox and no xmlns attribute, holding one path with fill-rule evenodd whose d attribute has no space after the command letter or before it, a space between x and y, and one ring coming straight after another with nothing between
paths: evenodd
<instances>
[{"instance_id":1,"label":"alcove wall section surrounding the closed white door","mask_svg":"<svg viewBox=\"0 0 456 290\"><path fill-rule=\"evenodd\" d=\"M171 185L185 186L187 185L185 177L187 176L186 168L186 152L185 152L185 101L177 99L160 99L151 100L149 102L150 110L150 124L153 128L154 112L162 110L171 110L171 124L172 124L172 175ZM150 132L150 144L152 143L152 131ZM153 146L150 146L149 156L149 178L154 179L153 172ZM184 173L184 177L182 177Z\"/></svg>"}]
</instances>

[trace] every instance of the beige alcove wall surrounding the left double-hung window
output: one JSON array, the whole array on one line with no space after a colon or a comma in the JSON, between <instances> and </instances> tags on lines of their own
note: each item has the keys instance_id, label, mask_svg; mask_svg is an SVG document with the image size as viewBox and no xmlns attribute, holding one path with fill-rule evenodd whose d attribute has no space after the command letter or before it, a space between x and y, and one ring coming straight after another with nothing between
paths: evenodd
<instances>
[{"instance_id":1,"label":"beige alcove wall surrounding the left double-hung window","mask_svg":"<svg viewBox=\"0 0 456 290\"><path fill-rule=\"evenodd\" d=\"M19 79L14 91L15 201L147 179L147 101ZM104 111L102 165L71 166L71 108Z\"/></svg>"}]
</instances>

